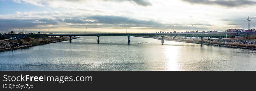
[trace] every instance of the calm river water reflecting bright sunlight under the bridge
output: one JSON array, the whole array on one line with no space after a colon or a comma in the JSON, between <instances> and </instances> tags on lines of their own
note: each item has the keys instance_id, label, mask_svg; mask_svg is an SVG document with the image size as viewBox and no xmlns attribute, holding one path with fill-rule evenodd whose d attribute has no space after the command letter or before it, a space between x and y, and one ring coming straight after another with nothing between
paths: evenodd
<instances>
[{"instance_id":1,"label":"calm river water reflecting bright sunlight under the bridge","mask_svg":"<svg viewBox=\"0 0 256 91\"><path fill-rule=\"evenodd\" d=\"M256 52L152 38L81 36L0 52L0 70L256 70ZM140 44L138 44L140 43Z\"/></svg>"}]
</instances>

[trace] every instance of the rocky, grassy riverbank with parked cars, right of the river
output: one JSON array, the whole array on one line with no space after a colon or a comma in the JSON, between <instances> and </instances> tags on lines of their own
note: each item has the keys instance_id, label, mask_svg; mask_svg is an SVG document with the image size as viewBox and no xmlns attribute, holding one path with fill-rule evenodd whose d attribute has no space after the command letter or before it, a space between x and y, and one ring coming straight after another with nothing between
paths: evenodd
<instances>
[{"instance_id":1,"label":"rocky, grassy riverbank with parked cars, right of the river","mask_svg":"<svg viewBox=\"0 0 256 91\"><path fill-rule=\"evenodd\" d=\"M136 36L143 38L154 38L162 40L161 36ZM241 48L241 49L250 49L256 50L256 39L217 39L217 38L204 38L201 42L200 38L191 38L191 37L169 37L165 36L164 40L176 41L176 42L187 42L187 43L196 43L196 44L207 44L214 46L222 47L231 47L231 48Z\"/></svg>"}]
</instances>

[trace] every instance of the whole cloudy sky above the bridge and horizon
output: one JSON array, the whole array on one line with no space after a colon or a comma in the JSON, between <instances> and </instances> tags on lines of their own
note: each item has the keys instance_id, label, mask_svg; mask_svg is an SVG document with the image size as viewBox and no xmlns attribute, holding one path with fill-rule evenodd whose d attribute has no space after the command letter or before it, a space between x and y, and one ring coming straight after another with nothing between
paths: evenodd
<instances>
[{"instance_id":1,"label":"whole cloudy sky above the bridge and horizon","mask_svg":"<svg viewBox=\"0 0 256 91\"><path fill-rule=\"evenodd\" d=\"M248 29L248 16L255 29L255 9L256 0L0 0L0 31L224 31Z\"/></svg>"}]
</instances>

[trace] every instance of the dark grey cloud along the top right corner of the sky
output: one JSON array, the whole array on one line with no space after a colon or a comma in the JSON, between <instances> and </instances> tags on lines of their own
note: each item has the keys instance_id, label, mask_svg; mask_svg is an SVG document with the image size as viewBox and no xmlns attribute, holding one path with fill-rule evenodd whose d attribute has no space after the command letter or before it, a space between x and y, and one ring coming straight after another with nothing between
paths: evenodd
<instances>
[{"instance_id":1,"label":"dark grey cloud along the top right corner of the sky","mask_svg":"<svg viewBox=\"0 0 256 91\"><path fill-rule=\"evenodd\" d=\"M255 1L250 0L182 0L191 4L221 5L226 7L244 7L244 5L254 5Z\"/></svg>"}]
</instances>

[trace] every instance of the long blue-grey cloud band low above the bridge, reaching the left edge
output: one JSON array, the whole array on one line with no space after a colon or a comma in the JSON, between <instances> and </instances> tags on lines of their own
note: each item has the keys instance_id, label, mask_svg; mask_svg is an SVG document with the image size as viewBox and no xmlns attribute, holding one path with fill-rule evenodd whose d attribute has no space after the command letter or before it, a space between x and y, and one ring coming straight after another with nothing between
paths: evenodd
<instances>
[{"instance_id":1,"label":"long blue-grey cloud band low above the bridge, reaching the left edge","mask_svg":"<svg viewBox=\"0 0 256 91\"><path fill-rule=\"evenodd\" d=\"M155 29L157 26L159 30L172 29L173 24L160 23L154 20L139 20L135 18L128 18L123 16L75 16L75 17L58 17L56 19L0 19L0 29L22 29L22 28L58 28L58 27L92 27L92 28L106 28L106 27L144 27L144 29ZM69 23L69 24L67 24ZM48 26L51 25L51 26ZM175 24L175 29L187 30L190 25ZM200 25L197 29L207 29L211 26L205 23L194 24ZM203 26L203 27L202 27Z\"/></svg>"}]
</instances>

